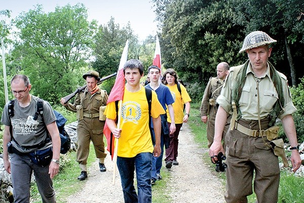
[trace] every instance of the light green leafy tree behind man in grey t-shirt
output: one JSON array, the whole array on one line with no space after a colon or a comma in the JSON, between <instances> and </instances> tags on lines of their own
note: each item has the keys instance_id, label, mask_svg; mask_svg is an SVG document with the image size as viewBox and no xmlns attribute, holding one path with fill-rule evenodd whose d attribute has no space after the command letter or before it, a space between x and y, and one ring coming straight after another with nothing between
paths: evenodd
<instances>
[{"instance_id":1,"label":"light green leafy tree behind man in grey t-shirt","mask_svg":"<svg viewBox=\"0 0 304 203\"><path fill-rule=\"evenodd\" d=\"M33 93L58 104L62 96L83 84L96 21L88 22L83 4L56 7L45 14L42 6L16 18L20 29L15 55L33 84ZM52 88L51 88L52 87Z\"/></svg>"}]
</instances>

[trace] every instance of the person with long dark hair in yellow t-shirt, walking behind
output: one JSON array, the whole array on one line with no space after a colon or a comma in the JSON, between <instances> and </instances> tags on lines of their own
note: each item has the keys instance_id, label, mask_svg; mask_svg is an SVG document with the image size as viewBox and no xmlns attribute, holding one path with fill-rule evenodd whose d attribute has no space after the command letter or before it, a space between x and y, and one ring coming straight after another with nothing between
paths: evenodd
<instances>
[{"instance_id":1,"label":"person with long dark hair in yellow t-shirt, walking behind","mask_svg":"<svg viewBox=\"0 0 304 203\"><path fill-rule=\"evenodd\" d=\"M164 84L169 87L171 94L174 98L174 103L172 104L174 110L174 119L176 130L174 133L170 133L170 145L166 149L166 168L171 168L173 165L178 165L177 156L178 156L178 134L182 123L186 123L189 118L190 112L190 102L191 98L186 90L186 88L179 84L181 92L177 88L177 74L173 69L167 69L163 77L165 78ZM183 112L183 105L185 104L185 115ZM167 110L168 115L168 126L170 128L171 118L169 116L169 111Z\"/></svg>"}]
</instances>

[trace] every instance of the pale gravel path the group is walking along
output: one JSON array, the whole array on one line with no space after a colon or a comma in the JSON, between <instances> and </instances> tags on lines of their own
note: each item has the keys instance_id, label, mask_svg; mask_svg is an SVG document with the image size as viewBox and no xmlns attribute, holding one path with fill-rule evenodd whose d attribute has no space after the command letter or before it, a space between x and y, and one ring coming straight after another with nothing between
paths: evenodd
<instances>
[{"instance_id":1,"label":"pale gravel path the group is walking along","mask_svg":"<svg viewBox=\"0 0 304 203\"><path fill-rule=\"evenodd\" d=\"M188 125L183 125L179 134L179 165L172 166L169 171L170 196L173 202L224 202L224 187L221 182L210 173L208 164L202 161L205 152L198 148L189 132ZM116 174L116 184L112 185L113 163L106 158L106 173L100 173L98 163L89 168L85 186L82 191L70 196L67 202L124 202L119 172ZM164 166L165 167L165 166ZM212 166L213 167L213 166ZM168 169L165 169L168 170Z\"/></svg>"}]
</instances>

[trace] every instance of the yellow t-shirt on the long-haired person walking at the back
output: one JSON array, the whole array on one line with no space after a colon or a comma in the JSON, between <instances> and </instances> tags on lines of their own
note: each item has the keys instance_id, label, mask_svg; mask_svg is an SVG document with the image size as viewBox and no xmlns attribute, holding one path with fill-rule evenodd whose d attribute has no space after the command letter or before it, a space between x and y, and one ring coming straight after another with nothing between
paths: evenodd
<instances>
[{"instance_id":1,"label":"yellow t-shirt on the long-haired person walking at the back","mask_svg":"<svg viewBox=\"0 0 304 203\"><path fill-rule=\"evenodd\" d=\"M174 103L172 104L173 110L174 110L174 119L176 124L181 124L182 119L184 117L183 114L183 105L187 102L191 102L191 98L186 90L186 88L180 84L180 89L181 89L181 95L177 89L177 84L175 85L167 85L169 87L171 94L174 98ZM168 122L171 123L171 117L169 114L169 110L167 108L167 117L168 117Z\"/></svg>"}]
</instances>

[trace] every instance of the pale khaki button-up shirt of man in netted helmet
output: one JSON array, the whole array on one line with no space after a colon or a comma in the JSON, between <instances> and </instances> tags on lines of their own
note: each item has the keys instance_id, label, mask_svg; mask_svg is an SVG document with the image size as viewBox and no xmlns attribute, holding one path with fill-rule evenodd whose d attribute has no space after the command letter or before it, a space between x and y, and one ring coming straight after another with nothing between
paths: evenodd
<instances>
[{"instance_id":1,"label":"pale khaki button-up shirt of man in netted helmet","mask_svg":"<svg viewBox=\"0 0 304 203\"><path fill-rule=\"evenodd\" d=\"M227 113L232 113L232 87L234 84L234 68L232 67L229 77L225 81L221 94L218 96L216 102L224 108ZM284 111L279 115L279 118L282 119L286 115L292 114L296 111L292 100L291 94L287 85L286 77L281 75L281 81L283 86L283 95L284 95ZM259 95L259 96L258 96ZM267 71L261 77L256 77L252 72L251 64L247 66L246 72L246 81L241 93L239 100L239 108L242 112L242 118L257 120L258 119L258 99L259 99L259 115L260 119L267 117L273 110L273 107L278 100L278 93L272 82L270 76L270 68L267 65Z\"/></svg>"}]
</instances>

